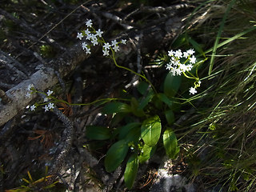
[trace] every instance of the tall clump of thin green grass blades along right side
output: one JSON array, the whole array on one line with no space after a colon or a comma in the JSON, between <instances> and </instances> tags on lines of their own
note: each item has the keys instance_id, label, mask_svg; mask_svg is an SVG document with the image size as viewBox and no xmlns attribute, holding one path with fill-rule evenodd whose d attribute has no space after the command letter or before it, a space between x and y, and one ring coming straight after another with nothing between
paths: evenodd
<instances>
[{"instance_id":1,"label":"tall clump of thin green grass blades along right side","mask_svg":"<svg viewBox=\"0 0 256 192\"><path fill-rule=\"evenodd\" d=\"M208 58L206 91L185 123L186 161L202 188L256 191L255 1L201 2L186 34L200 42Z\"/></svg>"}]
</instances>

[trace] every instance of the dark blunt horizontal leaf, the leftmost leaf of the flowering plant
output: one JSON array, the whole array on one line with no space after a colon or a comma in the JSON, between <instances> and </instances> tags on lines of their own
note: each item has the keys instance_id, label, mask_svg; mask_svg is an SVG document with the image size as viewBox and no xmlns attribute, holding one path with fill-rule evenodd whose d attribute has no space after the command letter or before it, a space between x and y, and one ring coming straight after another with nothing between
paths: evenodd
<instances>
[{"instance_id":1,"label":"dark blunt horizontal leaf, the leftmost leaf of the flowering plant","mask_svg":"<svg viewBox=\"0 0 256 192\"><path fill-rule=\"evenodd\" d=\"M110 139L110 129L105 126L86 126L86 137L95 140Z\"/></svg>"}]
</instances>

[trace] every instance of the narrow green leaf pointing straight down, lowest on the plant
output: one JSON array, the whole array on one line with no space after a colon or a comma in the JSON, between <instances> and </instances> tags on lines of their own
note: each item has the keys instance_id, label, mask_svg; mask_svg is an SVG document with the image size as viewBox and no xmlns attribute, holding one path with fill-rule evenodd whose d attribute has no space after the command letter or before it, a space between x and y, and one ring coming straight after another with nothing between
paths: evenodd
<instances>
[{"instance_id":1,"label":"narrow green leaf pointing straight down, lowest on the plant","mask_svg":"<svg viewBox=\"0 0 256 192\"><path fill-rule=\"evenodd\" d=\"M128 189L131 189L134 185L134 180L138 172L138 155L132 154L126 164L126 170L124 174L125 183Z\"/></svg>"}]
</instances>

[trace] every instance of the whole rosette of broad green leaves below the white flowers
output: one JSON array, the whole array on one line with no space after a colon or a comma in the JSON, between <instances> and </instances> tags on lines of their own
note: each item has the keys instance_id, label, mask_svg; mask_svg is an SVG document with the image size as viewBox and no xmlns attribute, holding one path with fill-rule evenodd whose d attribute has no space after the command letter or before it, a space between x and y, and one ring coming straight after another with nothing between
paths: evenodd
<instances>
[{"instance_id":1,"label":"whole rosette of broad green leaves below the white flowers","mask_svg":"<svg viewBox=\"0 0 256 192\"><path fill-rule=\"evenodd\" d=\"M103 113L111 115L110 124L113 127L86 127L88 138L114 141L106 152L106 171L112 172L122 162L126 163L124 178L129 189L134 184L138 164L145 163L153 156L162 132L166 154L170 158L178 156L179 147L174 131L166 130L165 127L166 122L170 126L174 123L173 97L180 84L181 78L168 74L165 94L156 93L147 82L139 82L138 98L130 97L130 102L109 102L102 108ZM160 117L166 117L164 124Z\"/></svg>"}]
</instances>

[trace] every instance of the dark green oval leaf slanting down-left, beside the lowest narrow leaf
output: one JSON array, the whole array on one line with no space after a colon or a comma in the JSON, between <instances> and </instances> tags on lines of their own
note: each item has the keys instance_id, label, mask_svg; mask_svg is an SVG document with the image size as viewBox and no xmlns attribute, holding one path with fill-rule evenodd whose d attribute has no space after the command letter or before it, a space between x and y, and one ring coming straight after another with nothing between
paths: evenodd
<instances>
[{"instance_id":1,"label":"dark green oval leaf slanting down-left, beside the lowest narrow leaf","mask_svg":"<svg viewBox=\"0 0 256 192\"><path fill-rule=\"evenodd\" d=\"M129 146L123 139L110 146L110 149L106 152L104 162L107 172L112 172L120 166L124 158L126 158L128 149Z\"/></svg>"}]
</instances>

